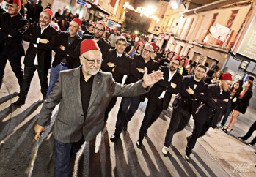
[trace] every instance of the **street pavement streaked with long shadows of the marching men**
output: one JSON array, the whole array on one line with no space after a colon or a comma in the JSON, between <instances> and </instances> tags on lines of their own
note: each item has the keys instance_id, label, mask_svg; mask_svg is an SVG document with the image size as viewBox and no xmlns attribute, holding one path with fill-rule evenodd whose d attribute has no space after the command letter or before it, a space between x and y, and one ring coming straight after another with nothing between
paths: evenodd
<instances>
[{"instance_id":1,"label":"street pavement streaked with long shadows of the marching men","mask_svg":"<svg viewBox=\"0 0 256 177\"><path fill-rule=\"evenodd\" d=\"M25 43L25 48L27 44ZM10 64L7 64L4 84L0 89L0 176L27 176L34 143L34 124L42 108L40 82L35 72L26 104L21 108L11 105L18 99L18 81ZM122 132L117 143L109 141L114 133L117 105L111 110L105 129L95 140L84 143L70 165L70 176L256 176L255 146L249 146L235 137L245 135L256 119L256 109L248 108L238 117L231 135L221 129L209 129L200 138L191 154L191 161L184 159L186 136L191 134L194 121L175 134L167 157L161 153L169 125L172 108L161 114L148 130L141 149L136 147L139 127L144 117L146 102L139 106L127 132ZM54 110L51 125L43 135L32 176L54 176L54 138L51 126L58 108ZM248 142L256 135L249 138Z\"/></svg>"}]
</instances>

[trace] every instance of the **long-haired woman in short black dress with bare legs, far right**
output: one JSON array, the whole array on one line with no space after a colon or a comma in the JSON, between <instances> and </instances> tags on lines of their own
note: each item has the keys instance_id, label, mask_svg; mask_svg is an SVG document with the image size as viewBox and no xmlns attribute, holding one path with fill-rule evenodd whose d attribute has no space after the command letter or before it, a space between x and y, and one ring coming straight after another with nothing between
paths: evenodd
<instances>
[{"instance_id":1,"label":"long-haired woman in short black dress with bare legs, far right","mask_svg":"<svg viewBox=\"0 0 256 177\"><path fill-rule=\"evenodd\" d=\"M233 102L235 102L234 110L227 125L222 129L225 133L231 132L233 130L235 122L237 121L238 115L240 113L244 114L246 112L246 109L249 106L249 100L252 97L252 86L252 81L247 80L244 84L244 90L241 91L239 97L235 97L233 99Z\"/></svg>"}]
</instances>

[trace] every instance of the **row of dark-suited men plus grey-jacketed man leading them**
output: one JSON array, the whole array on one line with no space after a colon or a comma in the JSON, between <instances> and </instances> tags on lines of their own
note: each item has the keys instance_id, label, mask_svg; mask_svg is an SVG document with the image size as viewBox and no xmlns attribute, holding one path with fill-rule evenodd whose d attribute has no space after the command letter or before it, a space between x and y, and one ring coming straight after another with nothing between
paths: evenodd
<instances>
[{"instance_id":1,"label":"row of dark-suited men plus grey-jacketed man leading them","mask_svg":"<svg viewBox=\"0 0 256 177\"><path fill-rule=\"evenodd\" d=\"M125 53L127 39L117 37L115 48L102 37L106 25L102 21L95 24L93 35L77 35L81 20L74 18L68 32L58 32L49 24L54 13L45 9L40 13L39 23L29 23L19 14L20 1L9 1L8 12L0 15L0 77L4 77L4 67L10 61L20 84L19 99L15 106L25 104L30 83L35 70L41 84L43 108L34 127L34 140L41 138L51 119L51 113L59 104L59 112L54 124L54 175L68 176L70 156L76 154L84 141L98 135L114 107L117 97L123 97L117 113L116 129L110 140L120 139L127 130L128 122L147 97L145 117L139 129L138 148L147 136L147 129L166 110L172 98L173 113L169 122L162 153L167 155L172 137L183 130L194 118L194 129L187 137L187 160L197 139L215 128L224 108L230 107L230 86L232 75L224 73L219 83L207 85L206 67L202 64L194 69L194 75L182 76L178 67L180 56L173 56L167 66L161 66L152 59L154 45L143 45L141 53L133 58ZM9 23L6 23L8 21ZM21 69L21 56L24 50L22 41L29 42L24 59L24 73ZM55 51L51 64L51 53ZM50 83L48 85L48 69ZM62 72L61 72L62 71ZM111 74L110 74L111 73ZM127 75L125 85L122 78ZM252 83L251 83L252 84Z\"/></svg>"}]
</instances>

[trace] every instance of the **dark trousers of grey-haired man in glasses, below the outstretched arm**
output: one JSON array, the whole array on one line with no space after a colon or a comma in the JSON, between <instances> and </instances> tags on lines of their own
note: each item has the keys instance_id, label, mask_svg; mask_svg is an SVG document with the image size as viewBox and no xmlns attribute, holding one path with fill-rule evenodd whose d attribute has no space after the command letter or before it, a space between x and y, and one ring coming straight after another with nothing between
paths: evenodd
<instances>
[{"instance_id":1,"label":"dark trousers of grey-haired man in glasses, below the outstretched arm","mask_svg":"<svg viewBox=\"0 0 256 177\"><path fill-rule=\"evenodd\" d=\"M139 97L122 98L120 108L117 113L116 133L121 133L124 124L128 124L134 113L139 108Z\"/></svg>"}]
</instances>

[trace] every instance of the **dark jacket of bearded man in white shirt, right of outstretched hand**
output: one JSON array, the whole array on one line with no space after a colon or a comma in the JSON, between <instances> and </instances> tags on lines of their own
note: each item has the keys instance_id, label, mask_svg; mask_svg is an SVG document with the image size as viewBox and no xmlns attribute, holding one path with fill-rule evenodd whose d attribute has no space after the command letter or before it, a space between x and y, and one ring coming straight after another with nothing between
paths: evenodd
<instances>
[{"instance_id":1,"label":"dark jacket of bearded man in white shirt, right of outstretched hand","mask_svg":"<svg viewBox=\"0 0 256 177\"><path fill-rule=\"evenodd\" d=\"M178 94L181 89L181 80L182 75L179 72L175 72L172 79L169 79L169 67L161 67L160 70L164 72L164 80L159 80L155 85L150 89L148 94L148 102L157 102L158 97L160 97L163 91L166 91L164 94L164 98L162 99L162 108L166 110L169 106L169 102L172 99L172 94ZM175 83L176 87L172 88L171 83Z\"/></svg>"}]
</instances>

